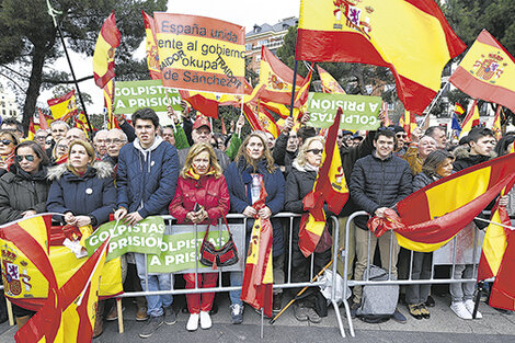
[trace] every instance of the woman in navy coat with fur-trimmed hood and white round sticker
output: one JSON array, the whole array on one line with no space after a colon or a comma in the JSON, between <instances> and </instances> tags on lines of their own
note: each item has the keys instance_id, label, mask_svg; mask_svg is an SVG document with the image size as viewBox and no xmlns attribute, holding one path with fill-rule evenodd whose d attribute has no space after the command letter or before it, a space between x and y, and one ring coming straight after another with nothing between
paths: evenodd
<instances>
[{"instance_id":1,"label":"woman in navy coat with fur-trimmed hood and white round sticker","mask_svg":"<svg viewBox=\"0 0 515 343\"><path fill-rule=\"evenodd\" d=\"M95 161L95 152L89 142L73 140L68 148L68 161L48 170L52 181L48 211L64 214L64 221L77 227L91 225L96 228L108 221L116 205L112 174L111 163ZM93 338L103 331L103 311L104 301L99 301Z\"/></svg>"}]
</instances>

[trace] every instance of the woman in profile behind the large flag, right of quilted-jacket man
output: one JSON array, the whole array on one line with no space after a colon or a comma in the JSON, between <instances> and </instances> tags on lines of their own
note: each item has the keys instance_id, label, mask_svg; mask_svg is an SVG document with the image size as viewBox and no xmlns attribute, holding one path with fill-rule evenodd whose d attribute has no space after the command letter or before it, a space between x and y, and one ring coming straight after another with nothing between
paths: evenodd
<instances>
[{"instance_id":1,"label":"woman in profile behind the large flag, right of quilted-jacket man","mask_svg":"<svg viewBox=\"0 0 515 343\"><path fill-rule=\"evenodd\" d=\"M413 179L413 191L416 192L426 185L450 175L453 172L454 157L446 150L439 149L431 152L424 160L422 172ZM433 253L413 251L411 279L431 278ZM425 307L430 295L431 285L408 285L405 301L410 315L416 319L430 318L430 311Z\"/></svg>"}]
</instances>

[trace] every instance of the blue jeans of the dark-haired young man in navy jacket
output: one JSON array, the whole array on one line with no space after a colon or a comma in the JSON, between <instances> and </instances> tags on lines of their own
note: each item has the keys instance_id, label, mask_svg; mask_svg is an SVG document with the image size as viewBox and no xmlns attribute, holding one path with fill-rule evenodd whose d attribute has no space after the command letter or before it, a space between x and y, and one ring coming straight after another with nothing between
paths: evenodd
<instances>
[{"instance_id":1,"label":"blue jeans of the dark-haired young man in navy jacket","mask_svg":"<svg viewBox=\"0 0 515 343\"><path fill-rule=\"evenodd\" d=\"M136 261L136 267L138 270L138 276L141 281L141 288L144 290L170 290L173 286L172 274L148 274L148 289L145 281L145 271L147 265L145 264L145 254L135 253L134 259ZM160 296L147 296L147 313L151 317L159 317L163 315L163 308L169 307L173 302L171 294Z\"/></svg>"}]
</instances>

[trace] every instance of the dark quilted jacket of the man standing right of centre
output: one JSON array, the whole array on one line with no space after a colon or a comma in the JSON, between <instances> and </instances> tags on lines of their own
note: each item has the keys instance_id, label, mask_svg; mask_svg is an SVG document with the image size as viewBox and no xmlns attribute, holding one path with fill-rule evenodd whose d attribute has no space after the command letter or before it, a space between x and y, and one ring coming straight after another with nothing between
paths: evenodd
<instances>
[{"instance_id":1,"label":"dark quilted jacket of the man standing right of centre","mask_svg":"<svg viewBox=\"0 0 515 343\"><path fill-rule=\"evenodd\" d=\"M374 151L354 164L348 190L357 207L374 215L378 208L393 208L410 195L413 191L412 180L407 161L393 155L381 160ZM355 222L367 229L366 221L365 216L359 216Z\"/></svg>"}]
</instances>

